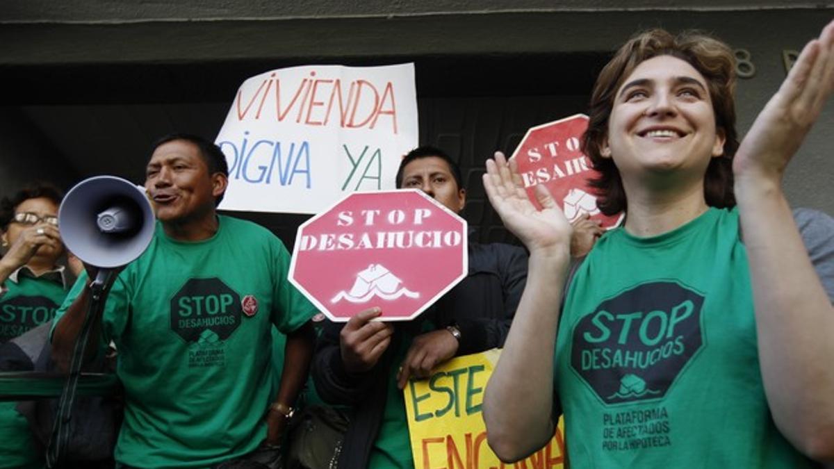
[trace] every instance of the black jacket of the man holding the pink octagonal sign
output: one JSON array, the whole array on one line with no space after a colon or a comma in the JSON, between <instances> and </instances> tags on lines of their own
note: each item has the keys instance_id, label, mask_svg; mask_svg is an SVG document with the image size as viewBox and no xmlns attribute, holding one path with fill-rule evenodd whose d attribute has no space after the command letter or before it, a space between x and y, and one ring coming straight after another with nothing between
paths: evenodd
<instances>
[{"instance_id":1,"label":"black jacket of the man holding the pink octagonal sign","mask_svg":"<svg viewBox=\"0 0 834 469\"><path fill-rule=\"evenodd\" d=\"M420 333L425 320L438 329L455 324L460 329L457 355L504 345L527 280L527 255L517 246L469 245L469 274L419 318L395 325L394 338L370 371L349 373L339 352L342 324L325 325L313 359L316 391L324 401L352 407L339 467L368 466L385 409L385 384L394 352L402 340Z\"/></svg>"}]
</instances>

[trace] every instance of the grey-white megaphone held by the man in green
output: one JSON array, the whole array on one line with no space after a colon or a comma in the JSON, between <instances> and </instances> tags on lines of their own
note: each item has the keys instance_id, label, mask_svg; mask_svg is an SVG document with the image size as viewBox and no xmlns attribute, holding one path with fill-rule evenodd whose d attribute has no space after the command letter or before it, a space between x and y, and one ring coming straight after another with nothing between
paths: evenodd
<instances>
[{"instance_id":1,"label":"grey-white megaphone held by the man in green","mask_svg":"<svg viewBox=\"0 0 834 469\"><path fill-rule=\"evenodd\" d=\"M78 259L113 270L138 258L150 244L153 208L139 186L95 176L69 189L58 209L58 226L64 245Z\"/></svg>"}]
</instances>

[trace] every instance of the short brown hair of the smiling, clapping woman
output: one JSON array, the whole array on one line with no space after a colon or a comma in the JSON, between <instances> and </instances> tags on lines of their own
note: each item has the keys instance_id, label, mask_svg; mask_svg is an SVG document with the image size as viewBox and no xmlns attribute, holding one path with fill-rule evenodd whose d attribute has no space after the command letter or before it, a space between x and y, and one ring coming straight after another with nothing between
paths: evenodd
<instances>
[{"instance_id":1,"label":"short brown hair of the smiling, clapping woman","mask_svg":"<svg viewBox=\"0 0 834 469\"><path fill-rule=\"evenodd\" d=\"M636 34L615 53L596 79L590 98L590 120L582 144L598 173L590 179L590 185L597 190L597 205L604 214L616 214L626 208L620 171L613 159L603 158L600 154L600 146L608 134L615 94L640 63L661 55L680 58L706 78L716 115L716 129L724 131L726 141L724 153L711 159L706 168L704 196L710 206L732 207L736 204L732 179L732 159L738 149L733 53L726 43L705 33L684 31L673 36L663 29L650 29Z\"/></svg>"}]
</instances>

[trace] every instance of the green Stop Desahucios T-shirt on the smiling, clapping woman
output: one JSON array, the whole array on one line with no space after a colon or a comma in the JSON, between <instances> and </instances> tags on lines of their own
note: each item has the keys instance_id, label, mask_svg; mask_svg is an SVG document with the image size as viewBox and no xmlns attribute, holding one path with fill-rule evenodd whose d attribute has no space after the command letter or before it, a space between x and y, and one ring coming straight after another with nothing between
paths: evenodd
<instances>
[{"instance_id":1,"label":"green Stop Desahucios T-shirt on the smiling, clapping woman","mask_svg":"<svg viewBox=\"0 0 834 469\"><path fill-rule=\"evenodd\" d=\"M736 210L603 236L576 271L555 386L577 467L804 467L761 382Z\"/></svg>"}]
</instances>

